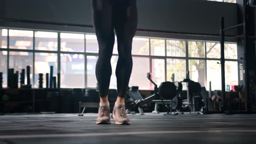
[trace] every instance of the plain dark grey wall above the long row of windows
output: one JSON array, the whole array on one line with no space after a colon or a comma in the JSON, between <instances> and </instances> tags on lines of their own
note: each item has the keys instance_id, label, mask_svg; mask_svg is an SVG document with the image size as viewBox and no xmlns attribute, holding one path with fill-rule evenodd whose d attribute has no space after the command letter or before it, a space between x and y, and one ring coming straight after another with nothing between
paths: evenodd
<instances>
[{"instance_id":1,"label":"plain dark grey wall above the long row of windows","mask_svg":"<svg viewBox=\"0 0 256 144\"><path fill-rule=\"evenodd\" d=\"M219 34L220 16L225 16L226 26L237 24L237 5L235 3L207 0L137 0L137 4L139 29ZM91 0L1 0L0 17L92 25ZM0 26L93 32L93 29L88 28L10 22L0 22ZM236 31L230 31L227 34L236 35ZM137 33L137 35L209 39L151 33Z\"/></svg>"}]
</instances>

